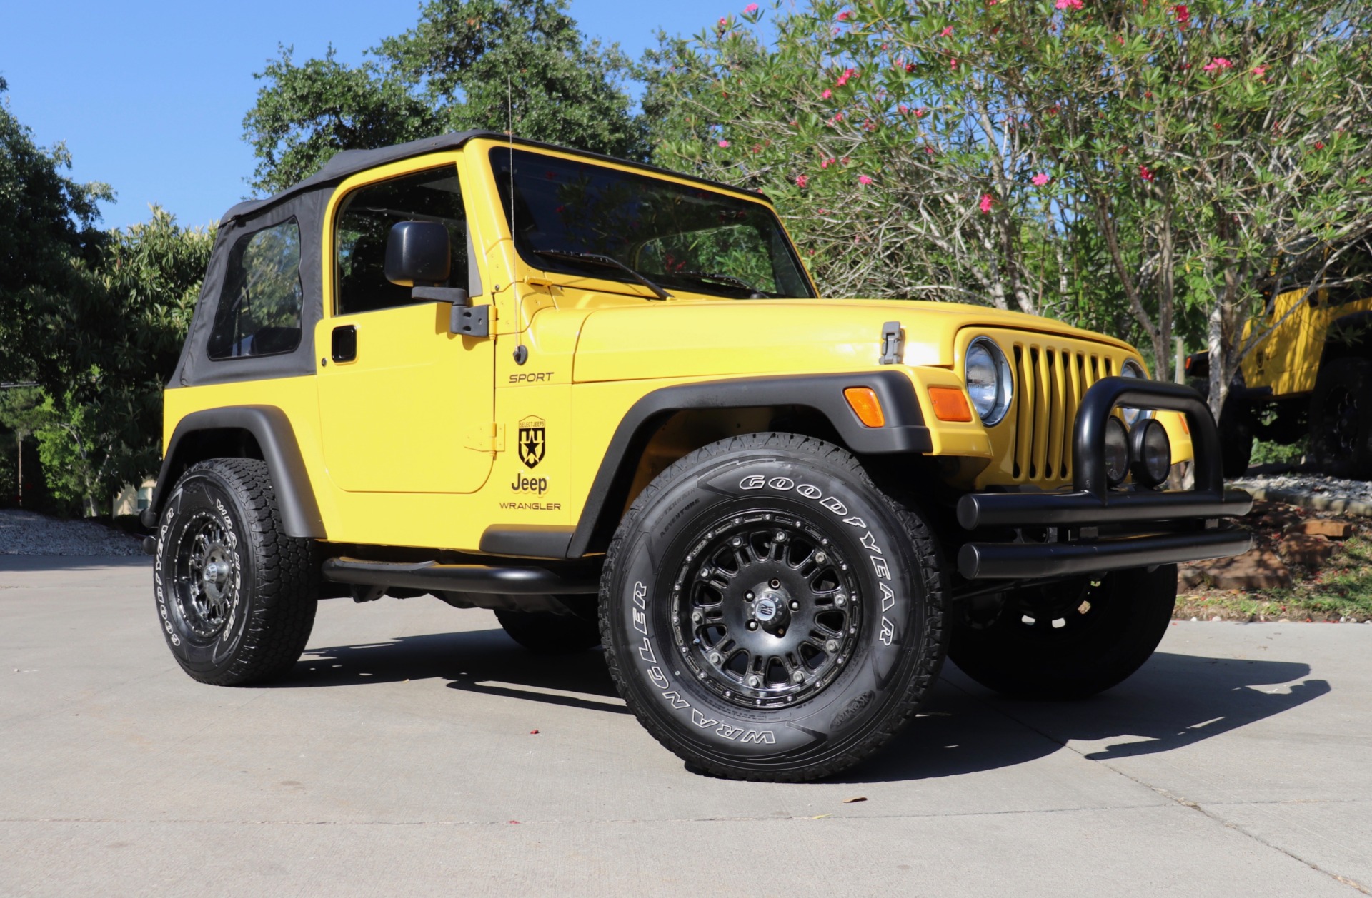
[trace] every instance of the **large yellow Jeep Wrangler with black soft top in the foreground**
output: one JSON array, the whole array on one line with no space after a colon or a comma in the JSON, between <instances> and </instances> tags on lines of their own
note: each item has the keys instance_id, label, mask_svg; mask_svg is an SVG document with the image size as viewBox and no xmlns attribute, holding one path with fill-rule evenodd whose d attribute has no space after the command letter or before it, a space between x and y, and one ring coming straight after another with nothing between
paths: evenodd
<instances>
[{"instance_id":1,"label":"large yellow Jeep Wrangler with black soft top in the foreground","mask_svg":"<svg viewBox=\"0 0 1372 898\"><path fill-rule=\"evenodd\" d=\"M1125 343L820 299L768 200L465 133L225 215L144 521L192 677L288 672L320 598L432 594L604 646L696 769L884 744L945 654L1081 696L1157 647L1220 526L1214 421ZM1188 491L1162 489L1192 457Z\"/></svg>"}]
</instances>

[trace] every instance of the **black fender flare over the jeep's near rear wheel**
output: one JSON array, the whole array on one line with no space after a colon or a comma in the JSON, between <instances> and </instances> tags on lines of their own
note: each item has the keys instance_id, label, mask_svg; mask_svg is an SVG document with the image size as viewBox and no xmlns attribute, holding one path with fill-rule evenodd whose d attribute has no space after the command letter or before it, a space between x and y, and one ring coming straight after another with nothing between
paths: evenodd
<instances>
[{"instance_id":1,"label":"black fender flare over the jeep's near rear wheel","mask_svg":"<svg viewBox=\"0 0 1372 898\"><path fill-rule=\"evenodd\" d=\"M158 485L152 491L152 502L143 511L141 521L147 528L155 528L162 514L166 495L187 468L178 450L192 433L204 430L247 430L262 450L262 461L272 474L277 507L281 510L281 528L287 536L325 539L324 517L314 500L310 474L305 469L300 447L295 440L291 420L276 406L225 406L192 411L177 422L172 439L167 440L162 457L162 470L158 472Z\"/></svg>"}]
</instances>

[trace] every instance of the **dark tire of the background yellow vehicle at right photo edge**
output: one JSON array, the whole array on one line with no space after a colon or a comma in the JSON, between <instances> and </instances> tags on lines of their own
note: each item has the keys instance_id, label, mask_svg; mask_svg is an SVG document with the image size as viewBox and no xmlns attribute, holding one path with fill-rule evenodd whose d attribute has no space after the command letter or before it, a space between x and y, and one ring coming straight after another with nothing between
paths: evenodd
<instances>
[{"instance_id":1,"label":"dark tire of the background yellow vehicle at right photo edge","mask_svg":"<svg viewBox=\"0 0 1372 898\"><path fill-rule=\"evenodd\" d=\"M1335 359L1310 395L1310 457L1335 477L1372 480L1372 363Z\"/></svg>"}]
</instances>

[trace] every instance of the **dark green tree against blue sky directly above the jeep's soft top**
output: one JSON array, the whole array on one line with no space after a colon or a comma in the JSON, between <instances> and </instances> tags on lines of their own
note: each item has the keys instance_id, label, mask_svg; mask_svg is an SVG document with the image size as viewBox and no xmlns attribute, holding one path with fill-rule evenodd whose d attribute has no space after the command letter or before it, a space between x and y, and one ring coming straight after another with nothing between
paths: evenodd
<instances>
[{"instance_id":1,"label":"dark green tree against blue sky directly above the jeep's soft top","mask_svg":"<svg viewBox=\"0 0 1372 898\"><path fill-rule=\"evenodd\" d=\"M291 49L257 77L244 136L254 186L279 191L342 149L488 129L616 156L645 155L623 89L632 66L587 40L567 0L431 0L418 23L346 66L332 49L296 64Z\"/></svg>"}]
</instances>

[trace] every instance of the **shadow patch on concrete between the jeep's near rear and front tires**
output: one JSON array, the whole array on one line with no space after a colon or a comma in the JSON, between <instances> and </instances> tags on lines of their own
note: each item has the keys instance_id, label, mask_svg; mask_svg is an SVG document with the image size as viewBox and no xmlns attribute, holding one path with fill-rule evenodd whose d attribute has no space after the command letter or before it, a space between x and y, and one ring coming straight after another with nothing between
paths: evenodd
<instances>
[{"instance_id":1,"label":"shadow patch on concrete between the jeep's near rear and front tires","mask_svg":"<svg viewBox=\"0 0 1372 898\"><path fill-rule=\"evenodd\" d=\"M627 714L601 651L538 655L502 629L401 636L355 646L309 648L295 670L273 685L305 688L449 680L466 692ZM556 690L543 692L539 690Z\"/></svg>"}]
</instances>

